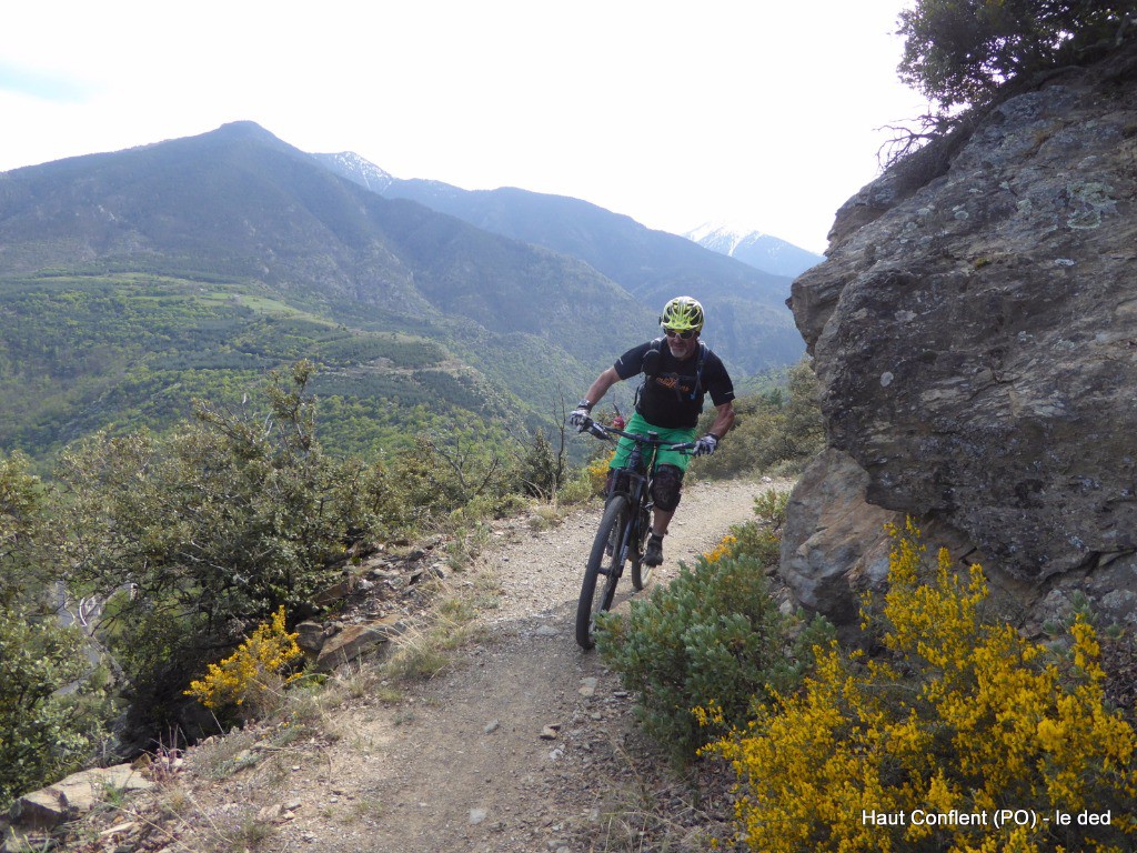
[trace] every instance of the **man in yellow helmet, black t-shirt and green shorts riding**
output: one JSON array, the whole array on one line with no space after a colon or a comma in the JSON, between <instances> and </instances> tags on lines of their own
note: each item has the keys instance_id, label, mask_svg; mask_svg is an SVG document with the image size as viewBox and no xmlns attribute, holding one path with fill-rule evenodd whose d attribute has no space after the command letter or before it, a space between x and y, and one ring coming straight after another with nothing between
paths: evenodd
<instances>
[{"instance_id":1,"label":"man in yellow helmet, black t-shirt and green shorts riding","mask_svg":"<svg viewBox=\"0 0 1137 853\"><path fill-rule=\"evenodd\" d=\"M597 376L584 399L568 415L568 423L583 430L592 407L613 384L642 373L644 382L636 392L636 414L628 423L628 432L658 432L659 439L667 444L695 441L703 398L709 392L717 415L707 434L695 441L694 455L714 453L735 424L735 387L722 359L699 340L703 321L703 306L696 299L679 296L670 300L659 317L664 337L629 349ZM626 464L633 446L631 439L620 439L612 469ZM677 450L659 450L652 483L655 514L644 553L644 562L649 566L663 563L663 537L679 506L683 473L690 459ZM611 471L608 478L609 481L613 478Z\"/></svg>"}]
</instances>

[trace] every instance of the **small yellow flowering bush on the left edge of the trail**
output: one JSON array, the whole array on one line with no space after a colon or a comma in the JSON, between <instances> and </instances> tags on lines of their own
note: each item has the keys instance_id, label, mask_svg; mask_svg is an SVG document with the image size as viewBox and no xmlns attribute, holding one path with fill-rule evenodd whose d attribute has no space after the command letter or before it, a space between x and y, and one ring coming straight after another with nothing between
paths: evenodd
<instances>
[{"instance_id":1,"label":"small yellow flowering bush on the left edge of the trail","mask_svg":"<svg viewBox=\"0 0 1137 853\"><path fill-rule=\"evenodd\" d=\"M271 622L257 626L232 655L210 663L205 678L191 681L185 695L213 711L247 703L259 706L267 694L298 678L283 674L304 654L296 644L297 636L285 630L281 607Z\"/></svg>"}]
</instances>

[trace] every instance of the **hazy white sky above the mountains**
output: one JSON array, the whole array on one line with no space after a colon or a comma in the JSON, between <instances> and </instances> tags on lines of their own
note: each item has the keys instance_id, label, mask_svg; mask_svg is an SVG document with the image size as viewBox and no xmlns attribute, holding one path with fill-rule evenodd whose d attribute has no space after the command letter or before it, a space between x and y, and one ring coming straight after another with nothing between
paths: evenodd
<instances>
[{"instance_id":1,"label":"hazy white sky above the mountains","mask_svg":"<svg viewBox=\"0 0 1137 853\"><path fill-rule=\"evenodd\" d=\"M0 171L249 119L397 177L728 220L822 251L927 110L905 0L36 0L0 27Z\"/></svg>"}]
</instances>

